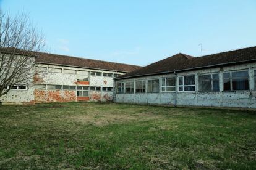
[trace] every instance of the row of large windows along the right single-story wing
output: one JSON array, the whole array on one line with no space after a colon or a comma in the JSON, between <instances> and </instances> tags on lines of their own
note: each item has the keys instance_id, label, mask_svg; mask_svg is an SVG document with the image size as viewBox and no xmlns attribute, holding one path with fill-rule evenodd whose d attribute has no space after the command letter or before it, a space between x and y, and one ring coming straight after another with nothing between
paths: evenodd
<instances>
[{"instance_id":1,"label":"row of large windows along the right single-story wing","mask_svg":"<svg viewBox=\"0 0 256 170\"><path fill-rule=\"evenodd\" d=\"M176 91L176 78L168 77L160 79L147 80L147 92L157 93ZM178 91L195 91L195 75L178 76ZM254 81L256 89L256 70L254 70ZM117 93L145 93L146 81L140 80L127 83L117 83ZM135 90L134 90L135 87ZM223 73L223 90L224 91L243 91L249 90L249 73L248 71L231 71ZM198 91L220 91L220 79L218 73L199 75Z\"/></svg>"}]
</instances>

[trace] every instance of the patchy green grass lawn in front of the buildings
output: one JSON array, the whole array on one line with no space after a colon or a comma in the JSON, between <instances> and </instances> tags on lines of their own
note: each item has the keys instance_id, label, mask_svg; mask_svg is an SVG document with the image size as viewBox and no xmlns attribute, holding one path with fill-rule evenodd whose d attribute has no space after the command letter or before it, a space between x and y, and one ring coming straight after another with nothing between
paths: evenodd
<instances>
[{"instance_id":1,"label":"patchy green grass lawn in front of the buildings","mask_svg":"<svg viewBox=\"0 0 256 170\"><path fill-rule=\"evenodd\" d=\"M256 169L256 112L114 103L0 107L0 169Z\"/></svg>"}]
</instances>

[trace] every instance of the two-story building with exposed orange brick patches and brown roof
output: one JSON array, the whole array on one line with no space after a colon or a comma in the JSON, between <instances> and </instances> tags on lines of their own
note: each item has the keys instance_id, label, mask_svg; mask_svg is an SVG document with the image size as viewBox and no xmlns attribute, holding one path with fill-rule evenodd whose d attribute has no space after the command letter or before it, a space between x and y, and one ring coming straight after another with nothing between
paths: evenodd
<instances>
[{"instance_id":1,"label":"two-story building with exposed orange brick patches and brown roof","mask_svg":"<svg viewBox=\"0 0 256 170\"><path fill-rule=\"evenodd\" d=\"M17 84L0 100L3 104L112 101L113 78L137 68L140 67L36 52L31 83Z\"/></svg>"}]
</instances>

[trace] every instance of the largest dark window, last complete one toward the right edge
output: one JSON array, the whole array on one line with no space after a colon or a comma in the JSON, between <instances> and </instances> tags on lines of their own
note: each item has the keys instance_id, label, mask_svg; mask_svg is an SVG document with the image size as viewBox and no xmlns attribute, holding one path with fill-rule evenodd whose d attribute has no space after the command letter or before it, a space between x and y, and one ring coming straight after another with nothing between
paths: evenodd
<instances>
[{"instance_id":1,"label":"largest dark window, last complete one toward the right edge","mask_svg":"<svg viewBox=\"0 0 256 170\"><path fill-rule=\"evenodd\" d=\"M249 90L248 71L234 71L223 74L224 91Z\"/></svg>"}]
</instances>

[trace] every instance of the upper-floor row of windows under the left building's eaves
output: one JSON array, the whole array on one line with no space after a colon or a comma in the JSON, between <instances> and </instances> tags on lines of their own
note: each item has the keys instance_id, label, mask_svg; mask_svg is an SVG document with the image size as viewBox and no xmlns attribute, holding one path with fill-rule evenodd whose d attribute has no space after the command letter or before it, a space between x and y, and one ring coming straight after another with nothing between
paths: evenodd
<instances>
[{"instance_id":1,"label":"upper-floor row of windows under the left building's eaves","mask_svg":"<svg viewBox=\"0 0 256 170\"><path fill-rule=\"evenodd\" d=\"M39 73L46 72L46 67L36 67L36 71ZM88 75L89 71L80 71L80 70L70 70L70 69L63 69L62 68L51 68L48 67L49 73L64 73L64 74L71 74L71 75L79 75L79 80L85 80L88 81ZM120 74L113 74L113 73L101 73L96 71L90 72L91 76L105 76L105 77L114 77L117 78L118 76L121 76Z\"/></svg>"}]
</instances>

